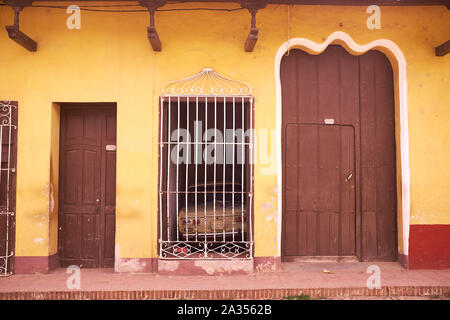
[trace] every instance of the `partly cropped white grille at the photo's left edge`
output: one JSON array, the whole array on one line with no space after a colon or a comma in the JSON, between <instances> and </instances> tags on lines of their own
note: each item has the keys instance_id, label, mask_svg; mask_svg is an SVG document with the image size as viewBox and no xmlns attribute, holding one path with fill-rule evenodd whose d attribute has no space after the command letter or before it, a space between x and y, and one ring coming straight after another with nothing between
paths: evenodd
<instances>
[{"instance_id":1,"label":"partly cropped white grille at the photo's left edge","mask_svg":"<svg viewBox=\"0 0 450 320\"><path fill-rule=\"evenodd\" d=\"M17 105L0 101L0 276L12 273L14 255Z\"/></svg>"}]
</instances>

